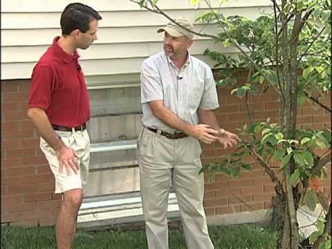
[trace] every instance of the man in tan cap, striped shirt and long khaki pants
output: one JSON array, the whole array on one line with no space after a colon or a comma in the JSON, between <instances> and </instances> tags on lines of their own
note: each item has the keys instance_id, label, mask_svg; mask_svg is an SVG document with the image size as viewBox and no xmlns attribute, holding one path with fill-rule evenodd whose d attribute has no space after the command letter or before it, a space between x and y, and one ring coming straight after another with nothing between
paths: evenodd
<instances>
[{"instance_id":1,"label":"man in tan cap, striped shirt and long khaki pants","mask_svg":"<svg viewBox=\"0 0 332 249\"><path fill-rule=\"evenodd\" d=\"M237 145L234 133L219 127L219 107L210 67L188 53L193 26L184 17L160 28L163 52L141 69L143 130L138 138L140 189L149 249L167 249L167 201L176 191L187 247L214 248L203 210L201 142ZM182 27L181 27L182 26Z\"/></svg>"}]
</instances>

